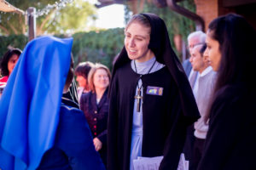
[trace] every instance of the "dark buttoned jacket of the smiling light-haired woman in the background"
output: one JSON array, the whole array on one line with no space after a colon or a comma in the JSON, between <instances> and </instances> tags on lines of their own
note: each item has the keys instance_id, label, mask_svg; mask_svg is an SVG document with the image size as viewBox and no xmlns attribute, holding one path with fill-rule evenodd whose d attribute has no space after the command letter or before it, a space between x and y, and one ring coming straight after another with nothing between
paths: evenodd
<instances>
[{"instance_id":1,"label":"dark buttoned jacket of the smiling light-haired woman in the background","mask_svg":"<svg viewBox=\"0 0 256 170\"><path fill-rule=\"evenodd\" d=\"M84 116L89 124L93 138L98 138L102 142L102 149L99 150L102 161L107 164L107 122L108 122L108 88L102 95L99 104L96 104L96 93L89 92L82 94L80 99L80 109L84 111Z\"/></svg>"}]
</instances>

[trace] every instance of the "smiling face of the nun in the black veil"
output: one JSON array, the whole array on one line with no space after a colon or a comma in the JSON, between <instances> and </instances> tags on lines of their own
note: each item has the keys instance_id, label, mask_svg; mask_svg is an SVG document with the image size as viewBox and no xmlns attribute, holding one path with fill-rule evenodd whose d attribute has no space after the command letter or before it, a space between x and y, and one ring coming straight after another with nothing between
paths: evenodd
<instances>
[{"instance_id":1,"label":"smiling face of the nun in the black veil","mask_svg":"<svg viewBox=\"0 0 256 170\"><path fill-rule=\"evenodd\" d=\"M154 54L148 49L150 40L150 28L145 27L138 22L131 23L125 30L125 49L130 59L136 59L138 62L144 62L154 57Z\"/></svg>"}]
</instances>

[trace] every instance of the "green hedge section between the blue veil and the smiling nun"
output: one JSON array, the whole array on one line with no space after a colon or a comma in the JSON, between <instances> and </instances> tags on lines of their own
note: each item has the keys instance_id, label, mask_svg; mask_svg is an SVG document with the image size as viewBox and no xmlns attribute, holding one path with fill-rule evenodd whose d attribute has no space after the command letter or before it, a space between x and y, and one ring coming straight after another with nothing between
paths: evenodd
<instances>
[{"instance_id":1,"label":"green hedge section between the blue veil and the smiling nun","mask_svg":"<svg viewBox=\"0 0 256 170\"><path fill-rule=\"evenodd\" d=\"M124 30L79 32L73 35L73 56L75 64L89 60L108 65L112 69L113 58L124 44Z\"/></svg>"}]
</instances>

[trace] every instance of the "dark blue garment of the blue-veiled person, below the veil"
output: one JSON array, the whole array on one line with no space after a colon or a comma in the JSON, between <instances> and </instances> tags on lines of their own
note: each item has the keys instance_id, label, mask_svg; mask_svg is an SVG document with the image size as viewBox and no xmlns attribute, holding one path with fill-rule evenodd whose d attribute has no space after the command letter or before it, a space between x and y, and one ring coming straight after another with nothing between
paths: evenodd
<instances>
[{"instance_id":1,"label":"dark blue garment of the blue-veiled person, below the veil","mask_svg":"<svg viewBox=\"0 0 256 170\"><path fill-rule=\"evenodd\" d=\"M68 104L62 99L55 145L45 152L37 170L105 170L84 112Z\"/></svg>"}]
</instances>

